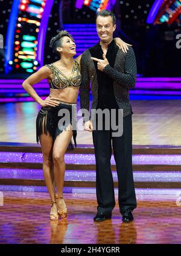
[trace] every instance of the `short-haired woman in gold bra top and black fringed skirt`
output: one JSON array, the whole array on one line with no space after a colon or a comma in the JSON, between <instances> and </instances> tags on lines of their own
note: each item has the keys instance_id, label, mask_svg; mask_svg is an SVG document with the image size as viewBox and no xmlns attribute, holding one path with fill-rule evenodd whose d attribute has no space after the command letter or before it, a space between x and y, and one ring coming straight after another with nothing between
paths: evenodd
<instances>
[{"instance_id":1,"label":"short-haired woman in gold bra top and black fringed skirt","mask_svg":"<svg viewBox=\"0 0 181 256\"><path fill-rule=\"evenodd\" d=\"M127 47L121 39L118 39L118 42L120 47L124 49ZM81 82L79 67L81 56L73 59L76 54L75 42L67 31L60 31L52 38L50 46L59 55L60 60L40 68L28 77L22 86L42 106L36 120L37 142L40 140L42 147L43 175L51 197L50 219L57 220L59 216L66 218L68 215L63 200L64 156L68 146L73 148L72 135L76 146L77 131L72 129L71 121L76 119L76 102ZM50 87L50 94L45 100L42 100L32 87L43 79L48 79ZM66 120L62 126L58 126L61 120L58 116L59 110L68 111L70 116L69 121ZM54 178L57 187L56 194L53 185Z\"/></svg>"}]
</instances>

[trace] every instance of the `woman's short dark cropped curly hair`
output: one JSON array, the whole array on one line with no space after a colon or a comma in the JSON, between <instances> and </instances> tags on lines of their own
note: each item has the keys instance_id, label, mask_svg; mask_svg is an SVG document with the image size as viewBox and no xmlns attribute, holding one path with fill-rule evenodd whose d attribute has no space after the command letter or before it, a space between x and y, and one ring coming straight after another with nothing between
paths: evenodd
<instances>
[{"instance_id":1,"label":"woman's short dark cropped curly hair","mask_svg":"<svg viewBox=\"0 0 181 256\"><path fill-rule=\"evenodd\" d=\"M71 34L69 34L68 31L62 30L59 32L59 34L54 36L54 38L52 38L49 43L49 47L51 47L52 51L56 53L57 56L59 57L60 57L60 53L59 51L57 51L57 47L62 47L62 39L64 36L68 36L70 39L72 39L72 41L74 41L74 38L72 38Z\"/></svg>"}]
</instances>

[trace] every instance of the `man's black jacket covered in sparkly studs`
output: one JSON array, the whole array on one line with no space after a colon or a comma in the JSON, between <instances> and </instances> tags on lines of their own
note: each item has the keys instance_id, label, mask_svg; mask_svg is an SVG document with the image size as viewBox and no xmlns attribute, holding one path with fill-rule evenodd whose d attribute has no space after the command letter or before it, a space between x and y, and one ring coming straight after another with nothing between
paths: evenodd
<instances>
[{"instance_id":1,"label":"man's black jacket covered in sparkly studs","mask_svg":"<svg viewBox=\"0 0 181 256\"><path fill-rule=\"evenodd\" d=\"M89 50L90 49L90 50ZM94 61L90 59L91 48L83 52L81 57L81 85L80 85L80 105L81 109L89 111L90 82L92 90L92 107L97 108L98 103L98 79L97 70ZM118 107L123 109L123 116L132 113L132 107L129 100L129 88L134 88L136 84L136 59L132 47L124 53L118 50L113 67L107 65L104 73L113 79L113 93L115 95ZM84 116L84 122L89 120L88 116Z\"/></svg>"}]
</instances>

